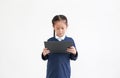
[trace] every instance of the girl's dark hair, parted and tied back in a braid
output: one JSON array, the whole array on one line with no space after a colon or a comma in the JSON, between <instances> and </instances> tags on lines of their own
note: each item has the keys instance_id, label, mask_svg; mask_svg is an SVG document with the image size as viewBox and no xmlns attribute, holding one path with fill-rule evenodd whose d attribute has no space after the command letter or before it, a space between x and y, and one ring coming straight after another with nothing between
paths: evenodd
<instances>
[{"instance_id":1,"label":"girl's dark hair, parted and tied back in a braid","mask_svg":"<svg viewBox=\"0 0 120 78\"><path fill-rule=\"evenodd\" d=\"M54 16L53 19L52 19L52 24L53 24L53 26L54 26L54 24L55 24L56 21L61 21L61 20L64 20L65 23L66 23L66 25L68 26L67 17L64 16L64 15L56 15L56 16ZM53 30L53 32L54 32L53 35L54 35L54 37L55 37L55 30Z\"/></svg>"}]
</instances>

